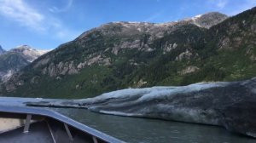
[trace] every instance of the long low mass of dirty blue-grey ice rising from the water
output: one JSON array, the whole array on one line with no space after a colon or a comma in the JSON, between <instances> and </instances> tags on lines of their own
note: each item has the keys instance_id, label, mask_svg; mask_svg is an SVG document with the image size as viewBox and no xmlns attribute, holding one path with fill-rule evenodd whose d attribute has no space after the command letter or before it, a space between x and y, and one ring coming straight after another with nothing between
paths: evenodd
<instances>
[{"instance_id":1,"label":"long low mass of dirty blue-grey ice rising from the water","mask_svg":"<svg viewBox=\"0 0 256 143\"><path fill-rule=\"evenodd\" d=\"M240 82L121 89L94 98L26 103L86 108L91 112L223 126L256 137L256 77Z\"/></svg>"}]
</instances>

